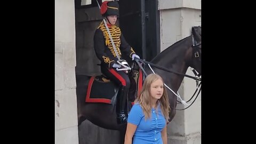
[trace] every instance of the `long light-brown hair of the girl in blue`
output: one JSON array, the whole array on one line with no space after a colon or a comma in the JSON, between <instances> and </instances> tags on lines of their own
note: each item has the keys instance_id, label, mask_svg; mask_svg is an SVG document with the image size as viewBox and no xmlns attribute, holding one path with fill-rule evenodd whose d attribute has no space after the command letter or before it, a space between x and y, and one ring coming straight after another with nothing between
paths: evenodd
<instances>
[{"instance_id":1,"label":"long light-brown hair of the girl in blue","mask_svg":"<svg viewBox=\"0 0 256 144\"><path fill-rule=\"evenodd\" d=\"M164 83L161 76L157 74L150 74L146 77L142 91L140 93L140 96L135 99L135 103L139 103L141 105L143 113L145 114L145 120L147 118L151 117L151 94L150 94L150 87L153 82L155 82L157 79L161 79L161 81ZM169 111L171 110L169 105L169 98L167 95L167 91L165 86L163 87L164 92L163 96L157 100L156 106L160 103L162 114L164 115L166 121L169 119ZM157 110L156 110L157 111Z\"/></svg>"}]
</instances>

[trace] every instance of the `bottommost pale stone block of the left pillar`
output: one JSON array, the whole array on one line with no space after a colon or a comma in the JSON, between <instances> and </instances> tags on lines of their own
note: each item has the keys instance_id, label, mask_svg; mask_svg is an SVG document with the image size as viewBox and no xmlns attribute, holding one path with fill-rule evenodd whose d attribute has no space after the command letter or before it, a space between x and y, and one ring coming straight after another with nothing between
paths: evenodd
<instances>
[{"instance_id":1,"label":"bottommost pale stone block of the left pillar","mask_svg":"<svg viewBox=\"0 0 256 144\"><path fill-rule=\"evenodd\" d=\"M55 144L78 144L77 126L55 131Z\"/></svg>"}]
</instances>

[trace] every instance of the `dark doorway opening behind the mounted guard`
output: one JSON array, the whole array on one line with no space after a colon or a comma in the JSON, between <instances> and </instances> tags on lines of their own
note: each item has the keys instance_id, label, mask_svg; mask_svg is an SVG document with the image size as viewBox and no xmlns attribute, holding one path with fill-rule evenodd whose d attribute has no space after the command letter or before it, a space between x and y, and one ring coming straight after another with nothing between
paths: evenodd
<instances>
[{"instance_id":1,"label":"dark doorway opening behind the mounted guard","mask_svg":"<svg viewBox=\"0 0 256 144\"><path fill-rule=\"evenodd\" d=\"M98 0L101 5L101 0ZM141 59L150 61L160 52L157 0L119 0L119 27L126 41ZM93 35L102 21L96 0L81 5L75 0L76 75L100 75Z\"/></svg>"}]
</instances>

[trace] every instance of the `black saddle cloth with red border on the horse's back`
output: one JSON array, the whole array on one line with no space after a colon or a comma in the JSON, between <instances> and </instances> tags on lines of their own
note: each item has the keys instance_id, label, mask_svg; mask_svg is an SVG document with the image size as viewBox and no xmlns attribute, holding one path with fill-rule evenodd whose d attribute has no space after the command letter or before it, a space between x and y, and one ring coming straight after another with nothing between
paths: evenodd
<instances>
[{"instance_id":1,"label":"black saddle cloth with red border on the horse's back","mask_svg":"<svg viewBox=\"0 0 256 144\"><path fill-rule=\"evenodd\" d=\"M142 90L142 70L133 70L129 76L131 86L129 89L129 101L135 100L135 95L138 95ZM110 81L106 76L94 76L90 78L85 102L101 102L114 104L120 87Z\"/></svg>"}]
</instances>

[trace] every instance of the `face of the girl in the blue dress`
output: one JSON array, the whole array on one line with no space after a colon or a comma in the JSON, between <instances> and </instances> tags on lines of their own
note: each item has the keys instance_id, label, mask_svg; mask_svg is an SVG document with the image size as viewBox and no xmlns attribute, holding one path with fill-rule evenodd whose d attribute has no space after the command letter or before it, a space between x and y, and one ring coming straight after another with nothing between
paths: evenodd
<instances>
[{"instance_id":1,"label":"face of the girl in the blue dress","mask_svg":"<svg viewBox=\"0 0 256 144\"><path fill-rule=\"evenodd\" d=\"M153 99L160 99L164 92L164 84L161 79L157 79L150 86L150 94Z\"/></svg>"}]
</instances>

